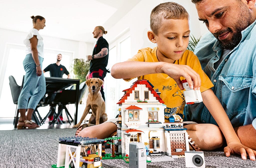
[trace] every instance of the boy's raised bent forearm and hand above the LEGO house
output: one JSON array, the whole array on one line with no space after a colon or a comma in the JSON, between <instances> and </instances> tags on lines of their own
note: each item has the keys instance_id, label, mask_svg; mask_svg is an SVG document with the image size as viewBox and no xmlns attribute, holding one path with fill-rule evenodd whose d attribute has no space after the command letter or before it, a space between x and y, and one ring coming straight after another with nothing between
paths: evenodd
<instances>
[{"instance_id":1,"label":"boy's raised bent forearm and hand above the LEGO house","mask_svg":"<svg viewBox=\"0 0 256 168\"><path fill-rule=\"evenodd\" d=\"M177 65L168 62L125 61L116 63L111 68L111 75L116 79L134 78L154 73L165 73L169 75L182 90L184 88L180 80L181 76L186 78L190 88L198 90L201 86L200 76L187 65Z\"/></svg>"}]
</instances>

